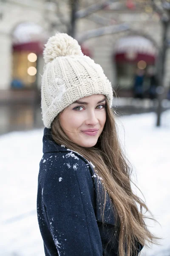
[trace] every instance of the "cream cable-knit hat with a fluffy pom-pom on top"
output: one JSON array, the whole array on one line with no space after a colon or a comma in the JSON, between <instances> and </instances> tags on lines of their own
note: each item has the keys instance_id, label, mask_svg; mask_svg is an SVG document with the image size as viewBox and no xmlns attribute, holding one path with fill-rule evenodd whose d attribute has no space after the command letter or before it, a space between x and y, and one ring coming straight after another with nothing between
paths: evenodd
<instances>
[{"instance_id":1,"label":"cream cable-knit hat with a fluffy pom-pom on top","mask_svg":"<svg viewBox=\"0 0 170 256\"><path fill-rule=\"evenodd\" d=\"M92 94L103 94L112 104L112 86L102 67L83 55L78 42L64 33L48 39L41 86L42 120L51 128L54 118L68 105Z\"/></svg>"}]
</instances>

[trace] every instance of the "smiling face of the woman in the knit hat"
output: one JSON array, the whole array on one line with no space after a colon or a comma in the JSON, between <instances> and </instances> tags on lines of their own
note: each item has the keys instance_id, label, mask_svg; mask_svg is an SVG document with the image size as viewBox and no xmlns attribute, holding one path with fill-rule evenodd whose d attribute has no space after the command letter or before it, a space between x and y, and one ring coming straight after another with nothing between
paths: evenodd
<instances>
[{"instance_id":1,"label":"smiling face of the woman in the knit hat","mask_svg":"<svg viewBox=\"0 0 170 256\"><path fill-rule=\"evenodd\" d=\"M82 147L96 145L106 121L105 105L102 94L84 97L69 105L59 117L68 138Z\"/></svg>"}]
</instances>

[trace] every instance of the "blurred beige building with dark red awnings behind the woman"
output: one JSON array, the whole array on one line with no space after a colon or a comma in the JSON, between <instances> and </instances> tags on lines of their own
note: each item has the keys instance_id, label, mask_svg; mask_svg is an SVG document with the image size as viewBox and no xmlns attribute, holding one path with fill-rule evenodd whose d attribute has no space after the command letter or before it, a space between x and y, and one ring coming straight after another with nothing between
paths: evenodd
<instances>
[{"instance_id":1,"label":"blurred beige building with dark red awnings behind the woman","mask_svg":"<svg viewBox=\"0 0 170 256\"><path fill-rule=\"evenodd\" d=\"M161 1L155 2L161 6ZM152 0L0 0L1 131L42 125L42 52L57 31L77 38L84 54L102 66L117 96L126 99L125 105L132 102L128 98L155 99L160 85L161 20ZM164 59L166 99L168 47Z\"/></svg>"}]
</instances>

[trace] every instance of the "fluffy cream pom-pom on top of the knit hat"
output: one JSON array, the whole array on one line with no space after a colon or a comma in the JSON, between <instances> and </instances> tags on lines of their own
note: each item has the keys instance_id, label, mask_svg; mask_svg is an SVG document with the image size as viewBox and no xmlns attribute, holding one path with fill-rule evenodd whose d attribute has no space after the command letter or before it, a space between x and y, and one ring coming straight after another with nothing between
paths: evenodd
<instances>
[{"instance_id":1,"label":"fluffy cream pom-pom on top of the knit hat","mask_svg":"<svg viewBox=\"0 0 170 256\"><path fill-rule=\"evenodd\" d=\"M83 55L77 40L65 33L57 33L48 39L43 56L45 63L51 62L59 56Z\"/></svg>"}]
</instances>

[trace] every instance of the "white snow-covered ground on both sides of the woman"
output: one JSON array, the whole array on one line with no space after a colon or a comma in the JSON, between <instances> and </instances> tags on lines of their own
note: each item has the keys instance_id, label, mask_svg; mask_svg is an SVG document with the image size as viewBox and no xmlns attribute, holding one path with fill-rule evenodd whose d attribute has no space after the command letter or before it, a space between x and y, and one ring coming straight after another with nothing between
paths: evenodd
<instances>
[{"instance_id":1,"label":"white snow-covered ground on both sides of the woman","mask_svg":"<svg viewBox=\"0 0 170 256\"><path fill-rule=\"evenodd\" d=\"M118 119L138 186L161 224L150 230L163 238L162 246L143 250L142 256L170 256L170 111L164 112L161 128L155 127L154 113ZM42 133L41 129L0 137L0 256L44 255L36 215Z\"/></svg>"}]
</instances>

